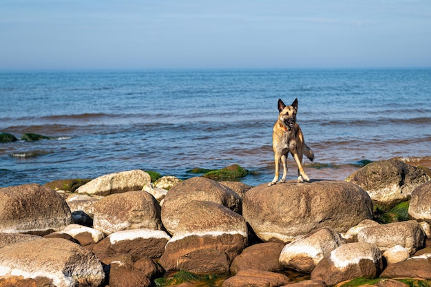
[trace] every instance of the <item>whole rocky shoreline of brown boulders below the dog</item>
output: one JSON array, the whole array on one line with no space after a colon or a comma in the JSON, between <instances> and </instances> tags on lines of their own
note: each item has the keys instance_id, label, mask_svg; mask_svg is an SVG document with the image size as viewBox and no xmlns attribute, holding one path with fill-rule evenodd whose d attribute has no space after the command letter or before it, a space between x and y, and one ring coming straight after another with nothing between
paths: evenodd
<instances>
[{"instance_id":1,"label":"whole rocky shoreline of brown boulders below the dog","mask_svg":"<svg viewBox=\"0 0 431 287\"><path fill-rule=\"evenodd\" d=\"M272 187L132 170L0 188L0 287L431 286L430 174L392 159Z\"/></svg>"}]
</instances>

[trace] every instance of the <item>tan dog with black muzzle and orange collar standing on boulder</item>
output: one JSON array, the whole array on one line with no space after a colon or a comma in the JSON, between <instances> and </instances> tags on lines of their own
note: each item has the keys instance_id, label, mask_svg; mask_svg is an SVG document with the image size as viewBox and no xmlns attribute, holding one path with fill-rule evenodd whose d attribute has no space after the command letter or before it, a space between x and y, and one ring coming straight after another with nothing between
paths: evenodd
<instances>
[{"instance_id":1,"label":"tan dog with black muzzle and orange collar standing on boulder","mask_svg":"<svg viewBox=\"0 0 431 287\"><path fill-rule=\"evenodd\" d=\"M302 168L302 155L305 154L312 162L314 160L313 151L307 147L304 142L304 135L302 134L301 128L296 123L296 113L298 111L298 100L295 98L292 105L284 105L282 100L278 100L278 120L273 127L273 150L275 160L275 176L272 182L269 182L268 186L277 183L279 171L280 171L280 160L283 164L283 176L280 179L280 183L286 182L287 174L287 154L290 151L293 159L298 166L298 180L297 182L310 181L308 176L305 174Z\"/></svg>"}]
</instances>

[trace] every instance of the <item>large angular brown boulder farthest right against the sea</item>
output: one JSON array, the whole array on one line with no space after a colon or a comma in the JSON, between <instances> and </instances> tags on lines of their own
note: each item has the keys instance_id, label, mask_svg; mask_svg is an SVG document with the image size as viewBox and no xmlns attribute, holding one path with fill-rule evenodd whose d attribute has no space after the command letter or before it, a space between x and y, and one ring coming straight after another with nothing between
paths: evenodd
<instances>
[{"instance_id":1,"label":"large angular brown boulder farthest right against the sea","mask_svg":"<svg viewBox=\"0 0 431 287\"><path fill-rule=\"evenodd\" d=\"M372 162L346 179L362 187L373 201L387 210L409 200L412 191L428 180L422 169L397 159Z\"/></svg>"}]
</instances>

